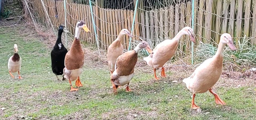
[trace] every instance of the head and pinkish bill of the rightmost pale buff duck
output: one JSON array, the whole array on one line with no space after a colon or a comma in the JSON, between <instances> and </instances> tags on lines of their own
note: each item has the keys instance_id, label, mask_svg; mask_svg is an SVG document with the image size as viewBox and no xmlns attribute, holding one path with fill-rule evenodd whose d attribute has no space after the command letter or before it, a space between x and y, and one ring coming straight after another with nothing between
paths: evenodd
<instances>
[{"instance_id":1,"label":"head and pinkish bill of the rightmost pale buff duck","mask_svg":"<svg viewBox=\"0 0 256 120\"><path fill-rule=\"evenodd\" d=\"M235 47L235 45L234 45L234 43L233 43L233 39L232 39L231 35L228 34L228 33L223 33L223 34L221 35L221 38L220 38L220 41L219 41L219 42L221 42L221 43L223 43L223 44L229 45L229 47L230 47L232 50L237 50L237 48Z\"/></svg>"}]
</instances>

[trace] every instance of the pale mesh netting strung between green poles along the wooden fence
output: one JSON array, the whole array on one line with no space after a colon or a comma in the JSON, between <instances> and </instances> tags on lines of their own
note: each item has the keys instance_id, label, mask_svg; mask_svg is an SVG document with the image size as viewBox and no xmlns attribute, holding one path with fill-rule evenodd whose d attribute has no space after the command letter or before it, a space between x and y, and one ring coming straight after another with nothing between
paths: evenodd
<instances>
[{"instance_id":1,"label":"pale mesh netting strung between green poles along the wooden fence","mask_svg":"<svg viewBox=\"0 0 256 120\"><path fill-rule=\"evenodd\" d=\"M65 23L63 0L25 1L37 24L53 29L54 33L57 33L59 25ZM174 38L183 27L191 26L191 13L194 8L194 34L197 39L194 48L198 61L206 59L202 56L207 54L198 51L206 49L205 47L216 48L221 34L227 32L234 38L234 43L238 47L238 51L231 54L235 59L227 59L227 61L233 61L237 65L256 65L254 62L255 0L194 0L194 6L191 0L138 0L136 14L136 0L91 0L92 11L89 2L89 0L66 0L69 45L73 41L75 24L78 20L85 20L91 31L80 34L85 44L93 44L97 47L98 40L98 47L106 50L123 28L131 31L134 27L132 48L139 37L144 38L151 48L154 48L163 40ZM191 55L190 43L189 37L183 36L175 56ZM124 49L128 49L128 36L123 36L122 44Z\"/></svg>"}]
</instances>

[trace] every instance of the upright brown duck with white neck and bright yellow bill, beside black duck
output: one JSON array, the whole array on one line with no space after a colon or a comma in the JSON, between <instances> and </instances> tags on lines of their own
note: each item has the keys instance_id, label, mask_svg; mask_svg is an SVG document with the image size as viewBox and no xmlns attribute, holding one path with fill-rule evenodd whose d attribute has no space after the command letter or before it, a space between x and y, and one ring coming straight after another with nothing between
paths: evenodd
<instances>
[{"instance_id":1,"label":"upright brown duck with white neck and bright yellow bill, beside black duck","mask_svg":"<svg viewBox=\"0 0 256 120\"><path fill-rule=\"evenodd\" d=\"M72 87L71 81L77 80L75 82L75 85L77 87L83 86L79 78L82 72L84 59L85 59L85 55L79 39L80 31L82 28L85 32L90 32L90 30L87 28L87 25L83 20L80 20L77 22L75 27L75 38L69 52L67 52L66 54L65 61L64 61L65 68L63 69L63 73L64 73L64 77L69 80L69 84L71 86L70 91L78 90Z\"/></svg>"}]
</instances>

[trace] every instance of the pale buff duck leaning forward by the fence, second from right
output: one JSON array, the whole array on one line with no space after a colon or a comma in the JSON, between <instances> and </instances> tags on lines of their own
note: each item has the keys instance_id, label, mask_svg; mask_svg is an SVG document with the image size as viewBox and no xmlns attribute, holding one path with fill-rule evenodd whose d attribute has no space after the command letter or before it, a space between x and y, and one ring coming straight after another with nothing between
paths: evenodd
<instances>
[{"instance_id":1,"label":"pale buff duck leaning forward by the fence, second from right","mask_svg":"<svg viewBox=\"0 0 256 120\"><path fill-rule=\"evenodd\" d=\"M156 80L159 80L155 71L156 68L162 67L161 76L166 77L165 69L163 65L171 59L174 55L175 51L177 50L179 39L183 35L189 35L192 42L195 43L194 33L192 28L184 27L178 34L171 40L167 39L163 42L159 43L155 49L153 50L154 54L150 54L147 57L144 57L143 60L147 62L150 67L153 67L154 70L154 77Z\"/></svg>"}]
</instances>

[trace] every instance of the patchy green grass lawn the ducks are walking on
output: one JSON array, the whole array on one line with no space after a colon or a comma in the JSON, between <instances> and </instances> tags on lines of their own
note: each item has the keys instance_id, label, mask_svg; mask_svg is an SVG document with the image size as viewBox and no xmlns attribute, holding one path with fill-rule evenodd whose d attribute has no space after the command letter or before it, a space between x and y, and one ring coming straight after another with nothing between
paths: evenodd
<instances>
[{"instance_id":1,"label":"patchy green grass lawn the ducks are walking on","mask_svg":"<svg viewBox=\"0 0 256 120\"><path fill-rule=\"evenodd\" d=\"M84 86L78 92L69 92L68 81L58 82L51 72L51 49L39 42L41 38L37 35L31 37L34 32L21 32L24 29L0 27L0 107L6 108L0 110L0 119L256 118L255 86L215 88L226 106L216 105L209 92L197 94L195 101L202 109L202 113L197 113L190 109L191 93L186 86L180 80L171 82L172 71L167 71L169 77L158 82L154 82L151 74L136 73L130 82L133 91L125 92L122 87L114 95L106 66L92 69L85 62L80 76ZM7 69L15 43L22 57L22 80L17 79L17 73L12 79Z\"/></svg>"}]
</instances>

